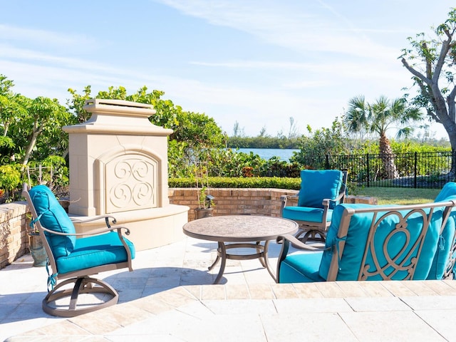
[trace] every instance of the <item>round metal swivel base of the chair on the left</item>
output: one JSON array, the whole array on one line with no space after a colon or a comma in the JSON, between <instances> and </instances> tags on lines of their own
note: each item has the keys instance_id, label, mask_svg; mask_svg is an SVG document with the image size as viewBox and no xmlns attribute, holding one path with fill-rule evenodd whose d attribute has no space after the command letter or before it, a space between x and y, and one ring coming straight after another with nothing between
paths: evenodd
<instances>
[{"instance_id":1,"label":"round metal swivel base of the chair on the left","mask_svg":"<svg viewBox=\"0 0 456 342\"><path fill-rule=\"evenodd\" d=\"M74 283L73 289L61 289L67 284ZM94 286L95 285L95 286ZM93 304L78 303L80 294L107 294L111 298L107 301ZM69 304L56 304L55 301L68 297ZM66 279L57 284L52 291L43 299L42 307L46 314L59 317L74 317L87 314L98 309L103 309L118 303L119 294L108 283L100 279L81 276L78 278ZM79 304L79 306L78 306Z\"/></svg>"}]
</instances>

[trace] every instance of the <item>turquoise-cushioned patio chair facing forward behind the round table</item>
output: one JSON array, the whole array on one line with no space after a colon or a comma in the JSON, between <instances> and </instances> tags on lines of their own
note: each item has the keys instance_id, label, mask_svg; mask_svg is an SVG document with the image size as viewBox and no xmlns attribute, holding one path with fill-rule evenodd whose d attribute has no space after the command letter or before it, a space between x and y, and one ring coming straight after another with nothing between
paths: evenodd
<instances>
[{"instance_id":1,"label":"turquoise-cushioned patio chair facing forward behind the round table","mask_svg":"<svg viewBox=\"0 0 456 342\"><path fill-rule=\"evenodd\" d=\"M340 170L301 170L301 190L297 195L281 196L281 217L299 224L295 235L301 242L322 241L336 204L343 203L346 195L347 172ZM287 200L298 197L296 206Z\"/></svg>"}]
</instances>

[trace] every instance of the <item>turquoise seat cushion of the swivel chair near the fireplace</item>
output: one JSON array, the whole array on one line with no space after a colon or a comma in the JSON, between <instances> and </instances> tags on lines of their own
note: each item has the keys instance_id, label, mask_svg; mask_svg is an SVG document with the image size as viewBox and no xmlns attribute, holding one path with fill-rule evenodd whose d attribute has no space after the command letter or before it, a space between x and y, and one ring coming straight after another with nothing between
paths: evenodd
<instances>
[{"instance_id":1,"label":"turquoise seat cushion of the swivel chair near the fireplace","mask_svg":"<svg viewBox=\"0 0 456 342\"><path fill-rule=\"evenodd\" d=\"M133 259L135 247L130 240L125 239L125 242L128 244ZM125 247L120 242L117 232L109 232L77 239L73 252L68 256L56 259L56 266L58 273L63 274L123 261L127 261Z\"/></svg>"}]
</instances>

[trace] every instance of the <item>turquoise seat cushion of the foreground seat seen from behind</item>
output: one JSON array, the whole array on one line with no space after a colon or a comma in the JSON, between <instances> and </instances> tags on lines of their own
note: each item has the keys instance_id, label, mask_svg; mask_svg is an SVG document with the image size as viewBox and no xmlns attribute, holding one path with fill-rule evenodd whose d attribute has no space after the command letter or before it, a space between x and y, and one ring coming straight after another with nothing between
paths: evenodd
<instances>
[{"instance_id":1,"label":"turquoise seat cushion of the foreground seat seen from behind","mask_svg":"<svg viewBox=\"0 0 456 342\"><path fill-rule=\"evenodd\" d=\"M289 254L280 264L280 283L311 283L325 281L318 274L323 252Z\"/></svg>"}]
</instances>

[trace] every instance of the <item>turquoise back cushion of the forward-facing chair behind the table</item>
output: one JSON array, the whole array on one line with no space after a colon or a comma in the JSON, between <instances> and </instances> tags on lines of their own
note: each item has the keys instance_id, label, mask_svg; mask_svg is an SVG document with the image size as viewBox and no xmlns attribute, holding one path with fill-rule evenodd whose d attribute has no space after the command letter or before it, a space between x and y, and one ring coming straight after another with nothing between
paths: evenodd
<instances>
[{"instance_id":1,"label":"turquoise back cushion of the forward-facing chair behind the table","mask_svg":"<svg viewBox=\"0 0 456 342\"><path fill-rule=\"evenodd\" d=\"M301 170L298 206L323 208L323 199L336 199L343 173L339 170Z\"/></svg>"}]
</instances>

